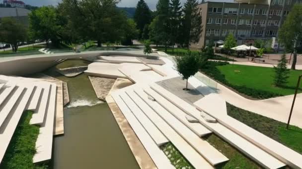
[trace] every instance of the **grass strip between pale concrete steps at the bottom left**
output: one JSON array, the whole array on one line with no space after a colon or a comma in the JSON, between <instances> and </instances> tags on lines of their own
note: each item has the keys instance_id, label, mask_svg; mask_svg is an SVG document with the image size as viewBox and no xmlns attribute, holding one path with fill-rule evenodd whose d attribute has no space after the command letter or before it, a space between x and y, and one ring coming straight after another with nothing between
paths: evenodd
<instances>
[{"instance_id":1,"label":"grass strip between pale concrete steps at the bottom left","mask_svg":"<svg viewBox=\"0 0 302 169\"><path fill-rule=\"evenodd\" d=\"M47 169L45 164L33 164L39 127L29 125L33 112L25 111L12 136L0 169Z\"/></svg>"}]
</instances>

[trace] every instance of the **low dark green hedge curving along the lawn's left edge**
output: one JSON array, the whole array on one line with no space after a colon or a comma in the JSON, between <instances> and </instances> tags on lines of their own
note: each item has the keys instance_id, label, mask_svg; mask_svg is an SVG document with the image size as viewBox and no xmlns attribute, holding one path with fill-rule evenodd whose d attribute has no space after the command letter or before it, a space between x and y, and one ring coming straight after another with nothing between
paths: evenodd
<instances>
[{"instance_id":1,"label":"low dark green hedge curving along the lawn's left edge","mask_svg":"<svg viewBox=\"0 0 302 169\"><path fill-rule=\"evenodd\" d=\"M211 78L214 78L215 80L226 84L227 86L232 87L233 89L237 90L240 93L246 94L248 96L258 98L258 99L267 99L272 97L278 97L283 96L279 93L273 93L270 91L265 90L259 90L247 87L245 85L236 85L231 84L227 81L225 75L223 75L216 66L223 66L227 65L229 63L227 62L214 62L214 61L207 61L207 63L201 68L201 71L204 72L206 75L210 76Z\"/></svg>"}]
</instances>

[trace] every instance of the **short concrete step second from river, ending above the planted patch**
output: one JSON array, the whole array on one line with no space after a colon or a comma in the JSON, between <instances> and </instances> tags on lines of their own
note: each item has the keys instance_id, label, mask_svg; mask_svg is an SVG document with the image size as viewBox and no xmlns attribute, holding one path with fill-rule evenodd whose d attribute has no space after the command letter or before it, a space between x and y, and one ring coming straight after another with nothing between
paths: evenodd
<instances>
[{"instance_id":1,"label":"short concrete step second from river, ending above the planted patch","mask_svg":"<svg viewBox=\"0 0 302 169\"><path fill-rule=\"evenodd\" d=\"M127 92L127 91L126 91ZM127 92L128 94L128 92ZM154 142L160 146L163 145L169 140L158 130L158 128L148 119L148 117L142 112L142 110L137 107L133 100L125 92L120 93L120 97L126 103L127 107L132 111L137 120L141 125L146 129Z\"/></svg>"}]
</instances>

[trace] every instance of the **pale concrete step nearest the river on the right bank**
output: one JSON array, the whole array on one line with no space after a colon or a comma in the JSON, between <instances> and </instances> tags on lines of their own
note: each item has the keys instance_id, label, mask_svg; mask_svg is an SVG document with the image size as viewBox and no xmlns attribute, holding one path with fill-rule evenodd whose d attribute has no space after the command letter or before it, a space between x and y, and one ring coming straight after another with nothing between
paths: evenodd
<instances>
[{"instance_id":1,"label":"pale concrete step nearest the river on the right bank","mask_svg":"<svg viewBox=\"0 0 302 169\"><path fill-rule=\"evenodd\" d=\"M116 92L111 93L111 96L144 145L156 167L158 169L174 169L166 155L157 147L156 143L152 140L151 136L147 133L144 127L134 117L131 110L127 107L122 98Z\"/></svg>"}]
</instances>

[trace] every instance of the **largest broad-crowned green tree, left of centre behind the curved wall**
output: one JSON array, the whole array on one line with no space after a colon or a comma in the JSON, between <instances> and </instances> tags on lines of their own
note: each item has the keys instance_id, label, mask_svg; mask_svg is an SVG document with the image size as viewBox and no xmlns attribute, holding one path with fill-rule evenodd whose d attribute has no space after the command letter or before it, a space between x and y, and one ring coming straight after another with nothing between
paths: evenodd
<instances>
[{"instance_id":1,"label":"largest broad-crowned green tree, left of centre behind the curved wall","mask_svg":"<svg viewBox=\"0 0 302 169\"><path fill-rule=\"evenodd\" d=\"M116 7L120 0L63 0L59 4L70 28L83 39L103 42L121 41L126 34L125 13Z\"/></svg>"}]
</instances>

